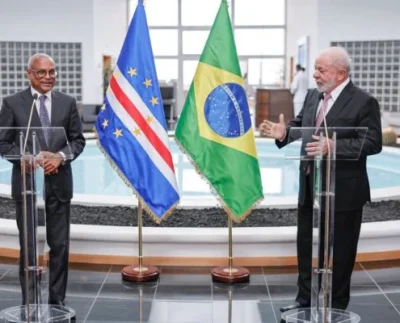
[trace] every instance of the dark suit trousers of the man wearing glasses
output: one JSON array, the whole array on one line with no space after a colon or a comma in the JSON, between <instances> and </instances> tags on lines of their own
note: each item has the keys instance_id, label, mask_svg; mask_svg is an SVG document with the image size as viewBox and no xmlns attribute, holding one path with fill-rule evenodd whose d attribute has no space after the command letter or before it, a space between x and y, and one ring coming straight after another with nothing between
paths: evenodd
<instances>
[{"instance_id":1,"label":"dark suit trousers of the man wearing glasses","mask_svg":"<svg viewBox=\"0 0 400 323\"><path fill-rule=\"evenodd\" d=\"M30 259L28 259L29 266L34 264L35 252L34 250L34 237L32 235L32 228L34 226L34 217L32 209L35 207L35 201L32 198L28 199L28 249ZM55 195L50 195L45 201L45 220L46 220L46 238L49 245L49 303L62 302L65 299L68 281L68 256L69 256L69 237L70 237L70 205L71 202L61 202ZM39 222L41 219L39 216ZM19 263L19 279L22 289L22 302L25 304L25 279L24 279L24 213L23 203L20 200L16 201L16 219L19 230L19 243L20 243L20 263ZM42 223L41 223L42 224ZM33 284L36 277L31 274L29 286L29 302L35 295L32 293Z\"/></svg>"}]
</instances>

